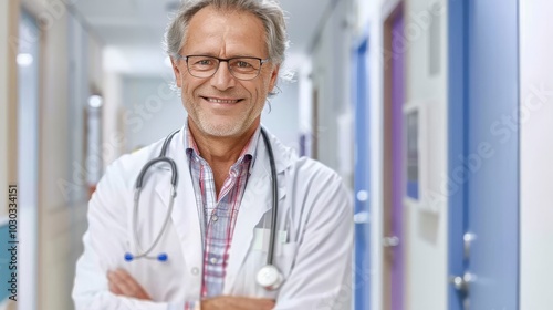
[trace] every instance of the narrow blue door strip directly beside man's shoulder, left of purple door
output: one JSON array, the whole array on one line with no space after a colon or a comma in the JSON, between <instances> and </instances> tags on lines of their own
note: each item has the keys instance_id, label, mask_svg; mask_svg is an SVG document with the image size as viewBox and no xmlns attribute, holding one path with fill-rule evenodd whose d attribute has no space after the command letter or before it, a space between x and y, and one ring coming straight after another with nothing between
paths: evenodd
<instances>
[{"instance_id":1,"label":"narrow blue door strip directly beside man's shoulder, left of purple door","mask_svg":"<svg viewBox=\"0 0 553 310\"><path fill-rule=\"evenodd\" d=\"M354 300L356 310L369 309L369 117L367 79L368 38L354 54L355 99L355 279Z\"/></svg>"}]
</instances>

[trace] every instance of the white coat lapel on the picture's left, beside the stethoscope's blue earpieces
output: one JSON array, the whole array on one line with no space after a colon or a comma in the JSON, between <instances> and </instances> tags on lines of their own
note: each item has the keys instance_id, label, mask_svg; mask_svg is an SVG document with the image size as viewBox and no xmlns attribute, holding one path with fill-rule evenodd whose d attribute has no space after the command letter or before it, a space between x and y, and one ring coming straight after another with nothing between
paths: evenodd
<instances>
[{"instance_id":1,"label":"white coat lapel on the picture's left, beside the stethoscope's blue earpieces","mask_svg":"<svg viewBox=\"0 0 553 310\"><path fill-rule=\"evenodd\" d=\"M184 138L184 131L181 130L173 138L167 152L168 156L177 164L178 172L177 196L175 197L175 205L173 207L171 221L173 227L177 231L180 240L185 264L189 269L198 268L197 270L201 270L202 238L199 223L200 216L198 215L198 208L196 206L196 198L188 158L185 152ZM167 175L170 177L170 170L167 172ZM156 184L156 192L164 200L164 205L168 207L170 197L169 179L167 178L167 182L159 182ZM201 272L196 273L199 275ZM196 285L192 285L194 282L195 281L188 283L191 285L194 290L197 289L199 292L201 277L197 277Z\"/></svg>"}]
</instances>

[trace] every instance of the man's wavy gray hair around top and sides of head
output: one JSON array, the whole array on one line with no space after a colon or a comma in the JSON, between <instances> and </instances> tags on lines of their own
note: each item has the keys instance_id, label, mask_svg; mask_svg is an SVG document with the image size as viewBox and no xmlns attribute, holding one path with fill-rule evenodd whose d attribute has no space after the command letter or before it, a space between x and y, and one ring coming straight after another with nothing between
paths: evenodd
<instances>
[{"instance_id":1,"label":"man's wavy gray hair around top and sides of head","mask_svg":"<svg viewBox=\"0 0 553 310\"><path fill-rule=\"evenodd\" d=\"M257 16L265 29L269 59L276 64L284 61L288 48L286 24L282 9L272 0L182 0L165 33L165 49L169 56L180 52L190 20L208 6L221 11L237 10Z\"/></svg>"}]
</instances>

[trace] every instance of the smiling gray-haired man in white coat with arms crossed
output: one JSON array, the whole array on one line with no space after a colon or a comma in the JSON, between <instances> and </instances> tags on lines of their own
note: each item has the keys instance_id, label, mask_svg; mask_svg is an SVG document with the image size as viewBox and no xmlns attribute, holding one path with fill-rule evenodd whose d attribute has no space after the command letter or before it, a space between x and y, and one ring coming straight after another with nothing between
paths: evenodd
<instances>
[{"instance_id":1,"label":"smiling gray-haired man in white coat with arms crossed","mask_svg":"<svg viewBox=\"0 0 553 310\"><path fill-rule=\"evenodd\" d=\"M76 309L347 309L349 195L260 125L286 48L281 8L184 1L166 40L188 118L98 184Z\"/></svg>"}]
</instances>

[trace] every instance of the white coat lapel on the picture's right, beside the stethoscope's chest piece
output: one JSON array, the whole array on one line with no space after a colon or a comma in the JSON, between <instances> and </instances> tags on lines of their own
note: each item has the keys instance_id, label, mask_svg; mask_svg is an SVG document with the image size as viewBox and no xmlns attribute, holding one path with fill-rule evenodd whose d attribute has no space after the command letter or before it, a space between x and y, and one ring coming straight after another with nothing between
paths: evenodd
<instances>
[{"instance_id":1,"label":"white coat lapel on the picture's right, beside the stethoscope's chest piece","mask_svg":"<svg viewBox=\"0 0 553 310\"><path fill-rule=\"evenodd\" d=\"M270 137L272 143L276 174L279 179L279 202L285 196L283 170L288 166L288 161L281 157L282 152L274 140ZM238 218L232 236L232 245L229 252L229 265L227 267L227 275L225 279L223 294L230 294L234 287L238 272L250 250L251 241L253 238L253 230L263 215L271 210L272 196L271 196L271 165L269 162L269 153L267 151L263 137L259 137L257 147L255 163L252 167L251 175L246 187L246 192L240 204ZM279 204L281 207L281 204ZM254 281L255 279L251 279Z\"/></svg>"}]
</instances>

